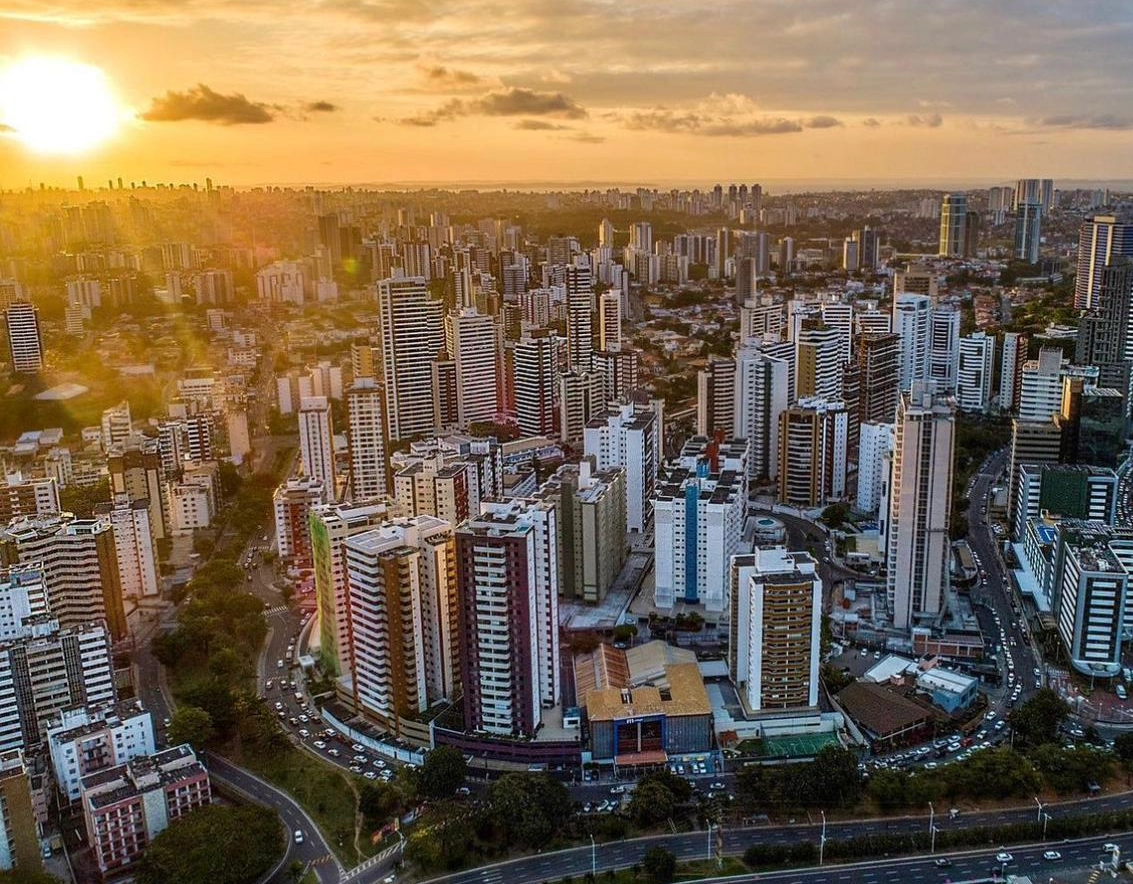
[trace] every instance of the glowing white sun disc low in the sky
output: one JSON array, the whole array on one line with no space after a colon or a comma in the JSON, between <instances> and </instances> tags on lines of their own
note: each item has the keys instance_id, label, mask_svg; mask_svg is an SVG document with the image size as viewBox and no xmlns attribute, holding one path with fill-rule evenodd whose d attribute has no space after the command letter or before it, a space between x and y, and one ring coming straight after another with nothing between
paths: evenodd
<instances>
[{"instance_id":1,"label":"glowing white sun disc low in the sky","mask_svg":"<svg viewBox=\"0 0 1133 884\"><path fill-rule=\"evenodd\" d=\"M107 75L61 58L15 61L0 71L0 124L36 153L85 153L123 119Z\"/></svg>"}]
</instances>

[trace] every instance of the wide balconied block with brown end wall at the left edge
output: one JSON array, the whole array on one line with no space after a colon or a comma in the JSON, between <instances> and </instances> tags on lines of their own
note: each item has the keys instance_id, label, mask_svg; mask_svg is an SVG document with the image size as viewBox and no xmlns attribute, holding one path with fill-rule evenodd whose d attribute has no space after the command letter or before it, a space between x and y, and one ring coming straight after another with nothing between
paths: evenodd
<instances>
[{"instance_id":1,"label":"wide balconied block with brown end wall at the left edge","mask_svg":"<svg viewBox=\"0 0 1133 884\"><path fill-rule=\"evenodd\" d=\"M126 638L126 611L112 527L70 515L14 519L0 528L0 564L39 564L48 603L62 627L103 621L114 641Z\"/></svg>"}]
</instances>

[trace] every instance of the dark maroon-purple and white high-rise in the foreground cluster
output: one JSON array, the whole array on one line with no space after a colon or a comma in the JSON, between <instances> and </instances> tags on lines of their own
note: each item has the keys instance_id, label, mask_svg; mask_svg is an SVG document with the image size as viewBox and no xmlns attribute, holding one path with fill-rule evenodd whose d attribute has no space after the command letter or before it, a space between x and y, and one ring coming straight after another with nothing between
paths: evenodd
<instances>
[{"instance_id":1,"label":"dark maroon-purple and white high-rise in the foreground cluster","mask_svg":"<svg viewBox=\"0 0 1133 884\"><path fill-rule=\"evenodd\" d=\"M457 529L465 725L534 736L560 699L554 504L499 501Z\"/></svg>"}]
</instances>

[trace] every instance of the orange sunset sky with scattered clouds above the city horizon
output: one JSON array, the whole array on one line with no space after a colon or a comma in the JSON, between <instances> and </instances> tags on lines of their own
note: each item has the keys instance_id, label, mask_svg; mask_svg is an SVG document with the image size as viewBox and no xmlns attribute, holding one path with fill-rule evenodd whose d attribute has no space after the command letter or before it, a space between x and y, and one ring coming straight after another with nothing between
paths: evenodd
<instances>
[{"instance_id":1,"label":"orange sunset sky with scattered clouds above the city horizon","mask_svg":"<svg viewBox=\"0 0 1133 884\"><path fill-rule=\"evenodd\" d=\"M123 111L0 126L0 186L1133 178L1131 46L1119 0L0 0L0 74Z\"/></svg>"}]
</instances>

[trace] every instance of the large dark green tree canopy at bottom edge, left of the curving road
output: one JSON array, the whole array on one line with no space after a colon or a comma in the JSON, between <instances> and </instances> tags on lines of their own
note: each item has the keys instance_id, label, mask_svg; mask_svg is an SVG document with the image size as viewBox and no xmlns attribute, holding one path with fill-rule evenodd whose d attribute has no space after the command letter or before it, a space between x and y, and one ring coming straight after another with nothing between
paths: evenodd
<instances>
[{"instance_id":1,"label":"large dark green tree canopy at bottom edge, left of the curving road","mask_svg":"<svg viewBox=\"0 0 1133 884\"><path fill-rule=\"evenodd\" d=\"M250 884L283 852L280 818L258 806L212 805L176 821L150 842L138 884Z\"/></svg>"}]
</instances>

